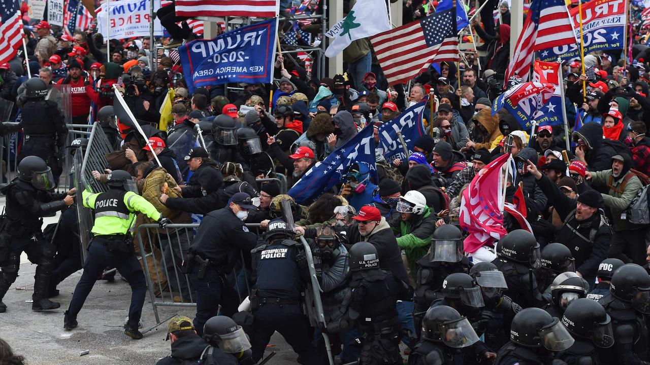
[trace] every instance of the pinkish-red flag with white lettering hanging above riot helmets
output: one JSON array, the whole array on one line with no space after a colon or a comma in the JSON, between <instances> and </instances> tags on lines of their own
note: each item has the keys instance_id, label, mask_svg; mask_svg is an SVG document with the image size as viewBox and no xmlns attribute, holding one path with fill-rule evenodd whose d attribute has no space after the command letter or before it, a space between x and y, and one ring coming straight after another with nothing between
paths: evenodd
<instances>
[{"instance_id":1,"label":"pinkish-red flag with white lettering hanging above riot helmets","mask_svg":"<svg viewBox=\"0 0 650 365\"><path fill-rule=\"evenodd\" d=\"M505 175L508 169L514 170L513 164L510 154L497 158L479 171L463 192L460 227L469 233L465 252L474 253L507 233L503 227Z\"/></svg>"}]
</instances>

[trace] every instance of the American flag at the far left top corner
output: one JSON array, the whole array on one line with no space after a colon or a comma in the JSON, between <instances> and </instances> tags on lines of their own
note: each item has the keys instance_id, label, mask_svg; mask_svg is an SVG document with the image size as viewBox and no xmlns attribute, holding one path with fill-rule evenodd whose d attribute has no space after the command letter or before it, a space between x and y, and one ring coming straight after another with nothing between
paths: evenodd
<instances>
[{"instance_id":1,"label":"American flag at the far left top corner","mask_svg":"<svg viewBox=\"0 0 650 365\"><path fill-rule=\"evenodd\" d=\"M22 43L23 23L18 0L0 0L0 64L9 62Z\"/></svg>"}]
</instances>

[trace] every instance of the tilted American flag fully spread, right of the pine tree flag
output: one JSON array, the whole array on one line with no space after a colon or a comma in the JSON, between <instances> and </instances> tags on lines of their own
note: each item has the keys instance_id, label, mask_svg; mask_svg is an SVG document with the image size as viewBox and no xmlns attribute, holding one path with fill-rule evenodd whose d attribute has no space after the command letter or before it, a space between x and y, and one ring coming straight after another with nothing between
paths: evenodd
<instances>
[{"instance_id":1,"label":"tilted American flag fully spread, right of the pine tree flag","mask_svg":"<svg viewBox=\"0 0 650 365\"><path fill-rule=\"evenodd\" d=\"M388 84L406 82L432 62L459 59L456 9L376 34L370 42Z\"/></svg>"}]
</instances>

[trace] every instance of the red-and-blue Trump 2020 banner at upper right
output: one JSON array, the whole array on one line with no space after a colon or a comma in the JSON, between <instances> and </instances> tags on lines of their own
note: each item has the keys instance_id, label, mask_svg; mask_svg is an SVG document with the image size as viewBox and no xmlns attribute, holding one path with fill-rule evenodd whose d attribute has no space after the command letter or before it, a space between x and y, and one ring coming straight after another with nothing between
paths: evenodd
<instances>
[{"instance_id":1,"label":"red-and-blue Trump 2020 banner at upper right","mask_svg":"<svg viewBox=\"0 0 650 365\"><path fill-rule=\"evenodd\" d=\"M582 38L584 54L606 49L623 49L625 39L625 0L599 0L582 4ZM569 11L573 29L580 42L580 16L578 7ZM556 61L580 57L580 45L563 45L539 51L542 61Z\"/></svg>"}]
</instances>

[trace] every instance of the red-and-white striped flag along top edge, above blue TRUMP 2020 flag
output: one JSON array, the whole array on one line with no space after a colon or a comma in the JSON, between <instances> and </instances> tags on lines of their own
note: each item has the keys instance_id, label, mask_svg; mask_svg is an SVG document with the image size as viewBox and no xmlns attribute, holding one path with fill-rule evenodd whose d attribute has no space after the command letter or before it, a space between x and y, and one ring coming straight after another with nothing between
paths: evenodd
<instances>
[{"instance_id":1,"label":"red-and-white striped flag along top edge, above blue TRUMP 2020 flag","mask_svg":"<svg viewBox=\"0 0 650 365\"><path fill-rule=\"evenodd\" d=\"M177 0L176 16L189 18L243 16L274 18L279 0Z\"/></svg>"}]
</instances>

